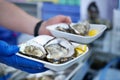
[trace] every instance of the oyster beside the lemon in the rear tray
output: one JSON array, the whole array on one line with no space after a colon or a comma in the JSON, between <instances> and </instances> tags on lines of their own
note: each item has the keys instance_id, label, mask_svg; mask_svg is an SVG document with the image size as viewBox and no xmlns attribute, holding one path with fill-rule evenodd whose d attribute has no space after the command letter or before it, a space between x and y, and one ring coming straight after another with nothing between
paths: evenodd
<instances>
[{"instance_id":1,"label":"oyster beside the lemon in the rear tray","mask_svg":"<svg viewBox=\"0 0 120 80\"><path fill-rule=\"evenodd\" d=\"M90 29L90 24L88 22L78 23L73 26L70 26L74 30L75 34L78 35L87 35Z\"/></svg>"}]
</instances>

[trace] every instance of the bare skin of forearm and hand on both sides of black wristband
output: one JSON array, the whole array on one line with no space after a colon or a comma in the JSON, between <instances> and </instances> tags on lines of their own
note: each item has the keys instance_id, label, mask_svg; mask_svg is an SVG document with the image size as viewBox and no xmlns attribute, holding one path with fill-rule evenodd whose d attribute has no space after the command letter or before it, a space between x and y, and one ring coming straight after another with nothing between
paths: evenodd
<instances>
[{"instance_id":1,"label":"bare skin of forearm and hand on both sides of black wristband","mask_svg":"<svg viewBox=\"0 0 120 80\"><path fill-rule=\"evenodd\" d=\"M35 25L39 21L39 19L27 14L14 4L0 0L0 25L14 31L33 35ZM45 27L57 23L71 23L71 19L67 16L59 15L44 21L39 29L39 34L50 35Z\"/></svg>"}]
</instances>

